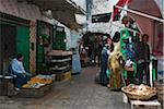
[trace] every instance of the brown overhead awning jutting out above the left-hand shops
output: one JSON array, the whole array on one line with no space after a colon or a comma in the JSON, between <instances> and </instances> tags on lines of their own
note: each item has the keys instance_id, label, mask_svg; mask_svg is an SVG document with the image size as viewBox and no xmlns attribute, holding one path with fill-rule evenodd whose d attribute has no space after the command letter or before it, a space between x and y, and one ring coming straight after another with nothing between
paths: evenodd
<instances>
[{"instance_id":1,"label":"brown overhead awning jutting out above the left-hand shops","mask_svg":"<svg viewBox=\"0 0 164 109\"><path fill-rule=\"evenodd\" d=\"M23 1L23 0L22 0ZM85 14L85 11L71 0L26 0L40 8L40 10L51 10L54 19L68 27L81 27L75 21L75 14ZM73 25L73 26L72 26Z\"/></svg>"}]
</instances>

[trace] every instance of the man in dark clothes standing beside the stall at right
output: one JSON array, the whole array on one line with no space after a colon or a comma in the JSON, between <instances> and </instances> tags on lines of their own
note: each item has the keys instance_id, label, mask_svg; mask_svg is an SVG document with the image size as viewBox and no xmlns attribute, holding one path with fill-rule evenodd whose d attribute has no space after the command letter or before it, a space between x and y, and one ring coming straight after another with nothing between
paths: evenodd
<instances>
[{"instance_id":1,"label":"man in dark clothes standing beside the stall at right","mask_svg":"<svg viewBox=\"0 0 164 109\"><path fill-rule=\"evenodd\" d=\"M136 61L137 61L137 73L139 84L143 83L143 71L147 76L147 85L150 86L150 47L147 44L149 36L147 34L142 35L141 41L136 44Z\"/></svg>"}]
</instances>

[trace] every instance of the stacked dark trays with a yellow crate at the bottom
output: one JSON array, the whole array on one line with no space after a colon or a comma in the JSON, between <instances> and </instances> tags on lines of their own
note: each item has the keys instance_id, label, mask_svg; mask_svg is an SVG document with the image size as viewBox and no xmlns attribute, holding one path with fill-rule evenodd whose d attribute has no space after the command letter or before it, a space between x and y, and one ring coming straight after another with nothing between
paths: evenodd
<instances>
[{"instance_id":1,"label":"stacked dark trays with a yellow crate at the bottom","mask_svg":"<svg viewBox=\"0 0 164 109\"><path fill-rule=\"evenodd\" d=\"M72 51L51 50L49 57L49 71L56 74L57 81L70 80L72 71Z\"/></svg>"}]
</instances>

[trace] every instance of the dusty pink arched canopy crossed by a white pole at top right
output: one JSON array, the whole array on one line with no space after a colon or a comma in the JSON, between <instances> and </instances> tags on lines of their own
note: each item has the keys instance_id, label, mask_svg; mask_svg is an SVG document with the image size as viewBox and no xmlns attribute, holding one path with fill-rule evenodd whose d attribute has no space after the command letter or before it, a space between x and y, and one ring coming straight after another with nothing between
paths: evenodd
<instances>
[{"instance_id":1,"label":"dusty pink arched canopy crossed by a white pole at top right","mask_svg":"<svg viewBox=\"0 0 164 109\"><path fill-rule=\"evenodd\" d=\"M128 4L128 9L145 13L150 16L159 17L161 20L163 19L162 13L160 12L160 8L154 0L131 0L131 2ZM136 20L142 33L150 36L154 35L153 21L157 22L156 20L144 17L139 14L133 14L131 12L128 12L128 15L132 16Z\"/></svg>"}]
</instances>

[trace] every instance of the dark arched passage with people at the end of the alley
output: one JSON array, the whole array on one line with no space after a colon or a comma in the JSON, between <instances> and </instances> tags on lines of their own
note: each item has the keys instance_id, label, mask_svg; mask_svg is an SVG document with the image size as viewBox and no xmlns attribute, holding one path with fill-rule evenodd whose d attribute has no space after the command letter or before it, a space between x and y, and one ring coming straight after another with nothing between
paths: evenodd
<instances>
[{"instance_id":1,"label":"dark arched passage with people at the end of the alley","mask_svg":"<svg viewBox=\"0 0 164 109\"><path fill-rule=\"evenodd\" d=\"M103 44L104 40L108 37L110 38L110 35L105 33L87 32L83 35L79 47L82 66L84 66L85 64L99 64Z\"/></svg>"}]
</instances>

